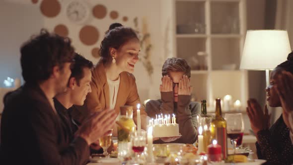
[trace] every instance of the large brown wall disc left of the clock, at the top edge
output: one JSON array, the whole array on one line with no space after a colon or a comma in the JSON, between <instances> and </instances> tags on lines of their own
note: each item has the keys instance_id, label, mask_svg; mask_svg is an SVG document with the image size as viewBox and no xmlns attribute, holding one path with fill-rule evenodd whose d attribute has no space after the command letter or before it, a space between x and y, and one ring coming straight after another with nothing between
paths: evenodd
<instances>
[{"instance_id":1,"label":"large brown wall disc left of the clock, at the top edge","mask_svg":"<svg viewBox=\"0 0 293 165\"><path fill-rule=\"evenodd\" d=\"M43 15L55 17L60 13L61 5L58 0L43 0L40 9Z\"/></svg>"}]
</instances>

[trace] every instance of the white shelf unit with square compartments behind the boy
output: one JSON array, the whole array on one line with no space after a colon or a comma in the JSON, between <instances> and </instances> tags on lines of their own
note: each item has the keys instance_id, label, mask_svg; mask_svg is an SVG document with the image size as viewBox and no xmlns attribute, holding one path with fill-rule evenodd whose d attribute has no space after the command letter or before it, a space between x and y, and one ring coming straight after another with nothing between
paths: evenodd
<instances>
[{"instance_id":1,"label":"white shelf unit with square compartments behind the boy","mask_svg":"<svg viewBox=\"0 0 293 165\"><path fill-rule=\"evenodd\" d=\"M227 94L232 103L238 99L245 104L247 71L238 69L246 33L246 0L173 0L173 10L174 56L192 67L193 98L206 99L209 111L214 111L215 98Z\"/></svg>"}]
</instances>

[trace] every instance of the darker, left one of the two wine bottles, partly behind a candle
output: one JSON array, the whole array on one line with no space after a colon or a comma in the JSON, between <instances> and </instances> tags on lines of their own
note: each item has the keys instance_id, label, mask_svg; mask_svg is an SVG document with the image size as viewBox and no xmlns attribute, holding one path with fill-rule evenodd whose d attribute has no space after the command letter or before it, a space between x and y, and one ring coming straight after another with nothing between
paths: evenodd
<instances>
[{"instance_id":1,"label":"darker, left one of the two wine bottles, partly behind a candle","mask_svg":"<svg viewBox=\"0 0 293 165\"><path fill-rule=\"evenodd\" d=\"M211 136L211 122L213 120L213 116L207 114L207 100L201 100L201 115L198 119L198 126L202 127L202 135L204 138L204 151L208 151L208 146L211 144L212 136Z\"/></svg>"}]
</instances>

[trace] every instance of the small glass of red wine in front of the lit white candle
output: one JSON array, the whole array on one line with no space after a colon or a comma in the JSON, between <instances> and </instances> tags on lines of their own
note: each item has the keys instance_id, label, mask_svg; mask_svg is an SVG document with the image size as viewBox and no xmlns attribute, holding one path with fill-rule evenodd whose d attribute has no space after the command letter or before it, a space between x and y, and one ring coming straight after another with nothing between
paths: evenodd
<instances>
[{"instance_id":1,"label":"small glass of red wine in front of the lit white candle","mask_svg":"<svg viewBox=\"0 0 293 165\"><path fill-rule=\"evenodd\" d=\"M132 150L135 153L135 161L138 163L143 163L145 160L141 157L141 154L145 150L147 143L147 134L146 131L134 132L131 138Z\"/></svg>"}]
</instances>

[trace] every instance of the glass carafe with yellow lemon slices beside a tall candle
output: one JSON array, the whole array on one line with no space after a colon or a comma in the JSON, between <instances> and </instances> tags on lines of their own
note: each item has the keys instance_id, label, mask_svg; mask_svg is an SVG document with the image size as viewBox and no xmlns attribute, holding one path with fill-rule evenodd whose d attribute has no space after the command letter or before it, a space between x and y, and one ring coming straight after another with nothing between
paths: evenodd
<instances>
[{"instance_id":1,"label":"glass carafe with yellow lemon slices beside a tall candle","mask_svg":"<svg viewBox=\"0 0 293 165\"><path fill-rule=\"evenodd\" d=\"M118 124L118 158L124 161L130 154L130 134L136 127L133 121L133 106L121 106L119 120L116 123Z\"/></svg>"}]
</instances>

